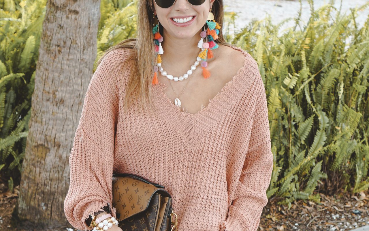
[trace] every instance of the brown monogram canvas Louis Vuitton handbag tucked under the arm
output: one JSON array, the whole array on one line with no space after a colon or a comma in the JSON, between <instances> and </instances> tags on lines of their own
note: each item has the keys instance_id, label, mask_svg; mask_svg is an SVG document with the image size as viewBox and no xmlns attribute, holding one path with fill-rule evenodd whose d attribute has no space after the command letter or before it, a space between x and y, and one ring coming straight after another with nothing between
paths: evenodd
<instances>
[{"instance_id":1,"label":"brown monogram canvas Louis Vuitton handbag tucked under the arm","mask_svg":"<svg viewBox=\"0 0 369 231\"><path fill-rule=\"evenodd\" d=\"M123 231L176 231L178 217L164 188L135 174L113 174L118 226Z\"/></svg>"}]
</instances>

